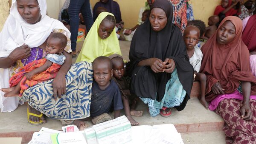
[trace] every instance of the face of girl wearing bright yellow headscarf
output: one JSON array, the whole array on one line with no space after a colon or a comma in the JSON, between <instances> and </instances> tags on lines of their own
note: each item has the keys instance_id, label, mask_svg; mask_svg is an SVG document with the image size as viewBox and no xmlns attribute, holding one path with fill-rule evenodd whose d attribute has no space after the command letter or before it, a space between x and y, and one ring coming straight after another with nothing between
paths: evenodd
<instances>
[{"instance_id":1,"label":"face of girl wearing bright yellow headscarf","mask_svg":"<svg viewBox=\"0 0 256 144\"><path fill-rule=\"evenodd\" d=\"M115 25L113 23L111 23L108 20L102 20L98 29L99 37L103 40L108 38L111 35L114 28L115 28Z\"/></svg>"}]
</instances>

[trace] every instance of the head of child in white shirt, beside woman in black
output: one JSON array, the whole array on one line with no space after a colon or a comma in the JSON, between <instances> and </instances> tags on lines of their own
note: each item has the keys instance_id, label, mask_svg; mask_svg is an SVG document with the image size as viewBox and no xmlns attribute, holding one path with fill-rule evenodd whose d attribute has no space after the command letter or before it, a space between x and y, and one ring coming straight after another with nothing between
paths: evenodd
<instances>
[{"instance_id":1,"label":"head of child in white shirt, beside woman in black","mask_svg":"<svg viewBox=\"0 0 256 144\"><path fill-rule=\"evenodd\" d=\"M189 30L184 31L183 39L187 49L192 49L198 43L200 31L196 28L189 27Z\"/></svg>"}]
</instances>

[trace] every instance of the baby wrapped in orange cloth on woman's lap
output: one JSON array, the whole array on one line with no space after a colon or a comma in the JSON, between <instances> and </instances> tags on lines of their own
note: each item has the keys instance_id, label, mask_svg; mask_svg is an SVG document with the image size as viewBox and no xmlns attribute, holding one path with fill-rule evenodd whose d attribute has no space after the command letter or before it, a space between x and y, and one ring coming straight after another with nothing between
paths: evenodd
<instances>
[{"instance_id":1,"label":"baby wrapped in orange cloth on woman's lap","mask_svg":"<svg viewBox=\"0 0 256 144\"><path fill-rule=\"evenodd\" d=\"M66 57L62 55L67 45L67 37L62 33L52 33L48 37L46 58L29 62L9 80L10 88L1 89L4 96L22 96L24 90L40 82L54 79Z\"/></svg>"}]
</instances>

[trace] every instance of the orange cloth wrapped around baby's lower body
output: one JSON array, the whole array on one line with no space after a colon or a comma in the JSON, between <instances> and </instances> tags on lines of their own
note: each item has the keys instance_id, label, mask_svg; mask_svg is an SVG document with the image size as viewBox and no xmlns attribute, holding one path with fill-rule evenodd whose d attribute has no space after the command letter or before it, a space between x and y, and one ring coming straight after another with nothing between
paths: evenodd
<instances>
[{"instance_id":1,"label":"orange cloth wrapped around baby's lower body","mask_svg":"<svg viewBox=\"0 0 256 144\"><path fill-rule=\"evenodd\" d=\"M47 59L39 59L33 62L29 62L29 64L27 64L23 68L20 68L20 72L16 73L9 80L10 87L14 87L20 82L20 96L22 96L23 91L28 89L29 87L32 87L40 82L44 82L49 79L54 79L58 73L58 70L61 68L61 65L55 63L53 63L49 68L47 68L46 71L43 71L32 76L31 80L26 79L26 76L24 76L26 73L44 65L46 61Z\"/></svg>"}]
</instances>

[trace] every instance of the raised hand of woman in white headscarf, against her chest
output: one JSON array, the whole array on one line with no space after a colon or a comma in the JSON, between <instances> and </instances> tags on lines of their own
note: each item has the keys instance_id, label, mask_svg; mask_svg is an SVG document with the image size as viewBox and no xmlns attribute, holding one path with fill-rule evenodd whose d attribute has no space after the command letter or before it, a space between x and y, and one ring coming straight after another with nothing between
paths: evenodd
<instances>
[{"instance_id":1,"label":"raised hand of woman in white headscarf, against her chest","mask_svg":"<svg viewBox=\"0 0 256 144\"><path fill-rule=\"evenodd\" d=\"M31 55L30 53L31 48L28 45L23 44L20 47L15 48L8 57L16 62L17 60L29 57Z\"/></svg>"}]
</instances>

